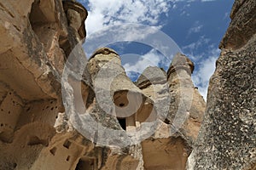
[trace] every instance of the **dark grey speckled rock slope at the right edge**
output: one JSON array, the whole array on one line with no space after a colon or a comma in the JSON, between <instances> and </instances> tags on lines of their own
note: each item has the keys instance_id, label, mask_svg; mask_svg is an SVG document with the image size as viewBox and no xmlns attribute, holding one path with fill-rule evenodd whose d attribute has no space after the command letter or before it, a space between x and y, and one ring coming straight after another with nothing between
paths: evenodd
<instances>
[{"instance_id":1,"label":"dark grey speckled rock slope at the right edge","mask_svg":"<svg viewBox=\"0 0 256 170\"><path fill-rule=\"evenodd\" d=\"M256 169L255 11L254 0L233 6L191 169Z\"/></svg>"}]
</instances>

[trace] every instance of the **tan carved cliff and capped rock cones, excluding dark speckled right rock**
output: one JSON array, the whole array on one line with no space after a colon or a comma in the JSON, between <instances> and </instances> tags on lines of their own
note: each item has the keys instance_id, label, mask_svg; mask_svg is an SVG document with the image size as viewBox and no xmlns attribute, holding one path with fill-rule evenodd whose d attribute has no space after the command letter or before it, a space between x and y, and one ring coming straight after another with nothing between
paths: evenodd
<instances>
[{"instance_id":1,"label":"tan carved cliff and capped rock cones, excluding dark speckled right rock","mask_svg":"<svg viewBox=\"0 0 256 170\"><path fill-rule=\"evenodd\" d=\"M100 48L81 81L86 17L75 1L0 1L0 169L185 169L205 110L193 63L177 54L133 83Z\"/></svg>"}]
</instances>

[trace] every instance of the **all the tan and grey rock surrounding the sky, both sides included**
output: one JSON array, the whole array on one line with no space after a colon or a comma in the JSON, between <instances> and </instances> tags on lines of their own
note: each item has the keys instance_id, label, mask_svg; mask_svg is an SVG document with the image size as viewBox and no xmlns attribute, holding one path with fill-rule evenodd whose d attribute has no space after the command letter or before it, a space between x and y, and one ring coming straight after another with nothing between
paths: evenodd
<instances>
[{"instance_id":1,"label":"all the tan and grey rock surrounding the sky, both sides included","mask_svg":"<svg viewBox=\"0 0 256 170\"><path fill-rule=\"evenodd\" d=\"M87 61L80 3L1 1L0 169L255 166L255 29L247 28L254 9L253 1L234 5L196 141L206 104L186 56L131 82L113 49ZM245 37L236 37L240 29Z\"/></svg>"}]
</instances>

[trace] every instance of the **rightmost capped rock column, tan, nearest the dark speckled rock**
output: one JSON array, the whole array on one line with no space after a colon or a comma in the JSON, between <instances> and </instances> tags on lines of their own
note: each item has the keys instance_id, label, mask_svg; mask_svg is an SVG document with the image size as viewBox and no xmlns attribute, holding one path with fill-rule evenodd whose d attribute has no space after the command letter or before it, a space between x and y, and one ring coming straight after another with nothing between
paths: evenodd
<instances>
[{"instance_id":1,"label":"rightmost capped rock column, tan, nearest the dark speckled rock","mask_svg":"<svg viewBox=\"0 0 256 170\"><path fill-rule=\"evenodd\" d=\"M191 80L194 64L183 54L176 54L167 72L171 103L168 122L172 133L181 133L192 147L201 126L205 101Z\"/></svg>"}]
</instances>

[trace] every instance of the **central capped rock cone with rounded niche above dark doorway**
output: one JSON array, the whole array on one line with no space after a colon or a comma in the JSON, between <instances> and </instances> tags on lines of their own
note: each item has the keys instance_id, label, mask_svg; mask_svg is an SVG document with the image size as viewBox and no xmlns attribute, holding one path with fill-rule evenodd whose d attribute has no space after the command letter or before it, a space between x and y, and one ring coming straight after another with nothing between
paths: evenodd
<instances>
[{"instance_id":1,"label":"central capped rock cone with rounded niche above dark doorway","mask_svg":"<svg viewBox=\"0 0 256 170\"><path fill-rule=\"evenodd\" d=\"M97 103L106 113L117 116L124 129L135 127L135 120L130 116L140 111L146 97L126 76L119 55L110 48L100 48L90 58L87 68Z\"/></svg>"}]
</instances>

